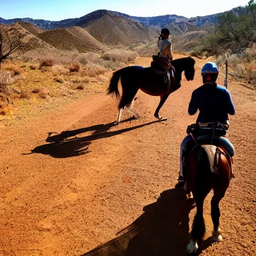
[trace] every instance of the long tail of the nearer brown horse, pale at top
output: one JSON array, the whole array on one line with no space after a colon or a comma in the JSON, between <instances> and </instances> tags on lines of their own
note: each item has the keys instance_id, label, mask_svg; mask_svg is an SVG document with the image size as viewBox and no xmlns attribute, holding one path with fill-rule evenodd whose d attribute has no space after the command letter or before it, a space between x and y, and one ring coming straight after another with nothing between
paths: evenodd
<instances>
[{"instance_id":1,"label":"long tail of the nearer brown horse, pale at top","mask_svg":"<svg viewBox=\"0 0 256 256\"><path fill-rule=\"evenodd\" d=\"M198 145L197 168L194 174L194 200L196 203L196 214L192 224L191 236L201 239L205 234L205 224L203 219L203 201L212 188L213 175L217 174L215 166L214 145ZM196 240L197 240L196 239Z\"/></svg>"}]
</instances>

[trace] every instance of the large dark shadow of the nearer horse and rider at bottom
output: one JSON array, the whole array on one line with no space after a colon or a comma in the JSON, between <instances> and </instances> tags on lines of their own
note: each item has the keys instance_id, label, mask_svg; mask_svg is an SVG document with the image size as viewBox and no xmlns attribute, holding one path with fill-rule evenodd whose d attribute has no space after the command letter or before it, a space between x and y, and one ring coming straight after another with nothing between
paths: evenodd
<instances>
[{"instance_id":1,"label":"large dark shadow of the nearer horse and rider at bottom","mask_svg":"<svg viewBox=\"0 0 256 256\"><path fill-rule=\"evenodd\" d=\"M82 256L186 255L188 214L193 207L182 188L163 191L118 237Z\"/></svg>"}]
</instances>

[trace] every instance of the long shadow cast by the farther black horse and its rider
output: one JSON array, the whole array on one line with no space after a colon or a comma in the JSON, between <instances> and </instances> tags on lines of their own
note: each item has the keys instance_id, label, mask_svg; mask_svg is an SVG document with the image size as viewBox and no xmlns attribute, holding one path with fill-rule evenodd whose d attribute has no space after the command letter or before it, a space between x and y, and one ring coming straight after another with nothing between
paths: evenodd
<instances>
[{"instance_id":1,"label":"long shadow cast by the farther black horse and its rider","mask_svg":"<svg viewBox=\"0 0 256 256\"><path fill-rule=\"evenodd\" d=\"M133 119L134 117L131 117L121 122L127 122ZM45 139L45 141L49 143L36 146L34 149L31 150L30 153L23 153L23 155L32 154L32 153L41 153L41 154L48 154L55 158L66 158L66 157L78 156L78 155L86 154L90 152L89 145L93 140L112 137L133 129L137 129L137 128L150 125L155 122L164 121L164 120L166 119L154 120L151 122L147 122L140 125L119 129L115 131L109 131L111 127L116 125L115 122L109 122L106 124L96 124L96 125L75 129L75 130L62 131L61 133L53 136L50 136L52 132L49 132L49 136ZM92 130L94 130L94 132L90 135L86 135L83 137L69 138L69 137L78 135L80 133L83 133L86 131L92 131Z\"/></svg>"}]
</instances>

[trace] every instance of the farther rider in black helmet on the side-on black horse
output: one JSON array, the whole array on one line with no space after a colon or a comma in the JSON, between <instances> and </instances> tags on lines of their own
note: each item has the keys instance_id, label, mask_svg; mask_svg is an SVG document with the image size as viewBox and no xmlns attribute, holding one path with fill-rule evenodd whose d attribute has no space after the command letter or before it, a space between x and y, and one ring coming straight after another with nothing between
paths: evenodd
<instances>
[{"instance_id":1,"label":"farther rider in black helmet on the side-on black horse","mask_svg":"<svg viewBox=\"0 0 256 256\"><path fill-rule=\"evenodd\" d=\"M172 51L171 51L171 41L169 40L170 31L168 28L162 28L161 33L157 40L157 45L160 51L159 56L164 56L168 59L168 67L170 76L174 79L174 67L171 65L171 61L173 59Z\"/></svg>"}]
</instances>

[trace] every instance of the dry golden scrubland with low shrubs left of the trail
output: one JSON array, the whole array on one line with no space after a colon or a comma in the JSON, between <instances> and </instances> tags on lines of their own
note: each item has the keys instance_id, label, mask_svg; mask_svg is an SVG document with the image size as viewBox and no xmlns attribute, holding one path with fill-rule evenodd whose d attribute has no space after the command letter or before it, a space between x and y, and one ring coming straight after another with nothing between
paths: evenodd
<instances>
[{"instance_id":1,"label":"dry golden scrubland with low shrubs left of the trail","mask_svg":"<svg viewBox=\"0 0 256 256\"><path fill-rule=\"evenodd\" d=\"M29 105L60 102L105 91L112 70L133 62L133 50L111 49L103 53L38 48L2 60L0 70L0 119ZM15 104L13 104L15 103Z\"/></svg>"}]
</instances>

